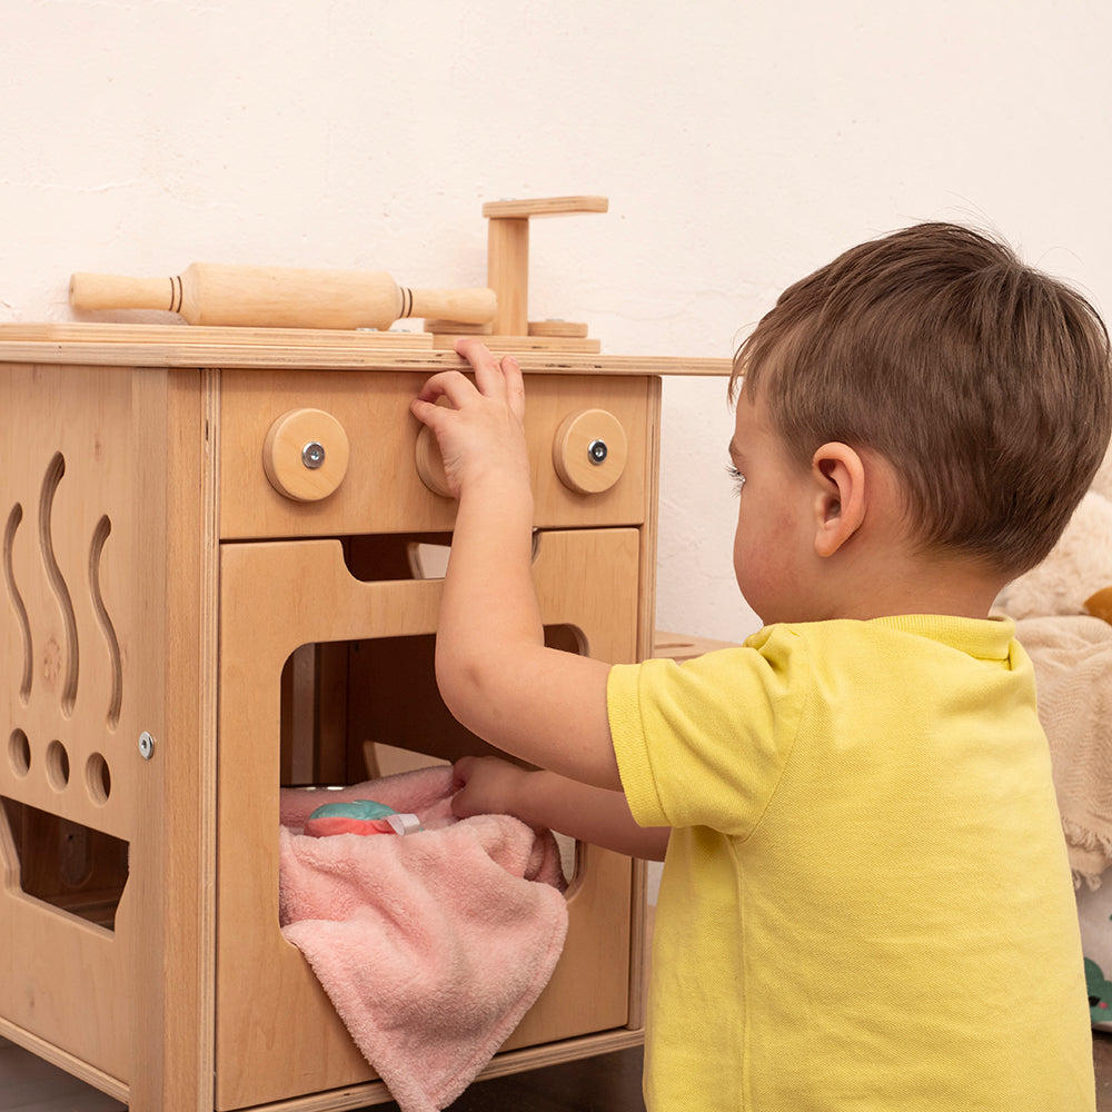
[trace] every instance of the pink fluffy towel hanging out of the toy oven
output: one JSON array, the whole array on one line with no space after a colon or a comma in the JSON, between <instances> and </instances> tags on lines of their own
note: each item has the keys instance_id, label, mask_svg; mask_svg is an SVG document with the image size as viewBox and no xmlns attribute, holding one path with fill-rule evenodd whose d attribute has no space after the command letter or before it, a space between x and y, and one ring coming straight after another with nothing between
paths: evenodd
<instances>
[{"instance_id":1,"label":"pink fluffy towel hanging out of the toy oven","mask_svg":"<svg viewBox=\"0 0 1112 1112\"><path fill-rule=\"evenodd\" d=\"M404 1112L439 1112L548 983L567 934L559 851L508 815L457 821L451 770L284 790L280 915ZM321 803L414 813L405 836L308 837Z\"/></svg>"}]
</instances>

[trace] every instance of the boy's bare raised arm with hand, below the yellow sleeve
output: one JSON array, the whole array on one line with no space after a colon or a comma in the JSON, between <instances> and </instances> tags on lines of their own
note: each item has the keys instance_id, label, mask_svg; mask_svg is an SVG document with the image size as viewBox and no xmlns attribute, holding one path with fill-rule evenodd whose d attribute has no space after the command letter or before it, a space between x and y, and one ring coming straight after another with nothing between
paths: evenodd
<instances>
[{"instance_id":1,"label":"boy's bare raised arm with hand, below the yellow sleeve","mask_svg":"<svg viewBox=\"0 0 1112 1112\"><path fill-rule=\"evenodd\" d=\"M459 503L436 638L440 694L492 745L572 780L619 788L606 715L609 666L544 643L522 370L475 339L457 341L456 350L475 383L444 371L411 407L436 436Z\"/></svg>"}]
</instances>

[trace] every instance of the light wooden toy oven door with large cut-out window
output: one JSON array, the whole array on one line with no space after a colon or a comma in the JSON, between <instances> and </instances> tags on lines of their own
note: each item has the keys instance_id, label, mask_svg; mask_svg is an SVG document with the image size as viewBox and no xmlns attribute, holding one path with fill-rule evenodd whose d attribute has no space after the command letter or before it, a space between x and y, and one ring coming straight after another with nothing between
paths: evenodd
<instances>
[{"instance_id":1,"label":"light wooden toy oven door with large cut-out window","mask_svg":"<svg viewBox=\"0 0 1112 1112\"><path fill-rule=\"evenodd\" d=\"M546 623L583 631L587 646L604 659L634 659L637 584L626 569L636 562L638 545L635 529L543 535L535 577ZM259 607L252 589L258 583L282 599L280 608ZM574 592L568 584L576 585ZM280 768L271 739L280 728L279 679L286 658L306 642L433 634L440 590L437 580L357 582L334 540L224 550L220 736L235 745L237 759L221 766L218 792L224 847L218 965L226 971L217 987L221 1106L262 1104L370 1075L304 959L278 931ZM358 718L376 739L443 754L439 731L427 731L419 717L436 697L431 675L421 685L410 669L403 698L396 677L384 672L398 653L391 643L387 657L369 662L379 698L376 707L364 704ZM354 684L368 694L370 686ZM474 746L480 747L477 739ZM568 892L564 955L509 1046L628 1022L635 871L627 858L584 847ZM296 1024L288 1022L291 1015L298 1016Z\"/></svg>"}]
</instances>

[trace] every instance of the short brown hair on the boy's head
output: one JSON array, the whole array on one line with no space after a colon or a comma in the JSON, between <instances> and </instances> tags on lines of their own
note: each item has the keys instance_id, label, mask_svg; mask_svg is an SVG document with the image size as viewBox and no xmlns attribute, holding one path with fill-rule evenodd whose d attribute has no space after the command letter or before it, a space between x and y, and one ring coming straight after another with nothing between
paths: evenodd
<instances>
[{"instance_id":1,"label":"short brown hair on the boy's head","mask_svg":"<svg viewBox=\"0 0 1112 1112\"><path fill-rule=\"evenodd\" d=\"M791 286L738 349L801 464L832 440L903 479L926 549L1015 576L1054 546L1112 433L1109 334L1005 245L922 224Z\"/></svg>"}]
</instances>

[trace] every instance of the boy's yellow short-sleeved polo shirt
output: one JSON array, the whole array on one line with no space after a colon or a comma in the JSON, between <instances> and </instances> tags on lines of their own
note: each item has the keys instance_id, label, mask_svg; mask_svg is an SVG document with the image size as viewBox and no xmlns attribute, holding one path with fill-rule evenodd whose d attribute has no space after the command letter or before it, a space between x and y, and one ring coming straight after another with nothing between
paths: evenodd
<instances>
[{"instance_id":1,"label":"boy's yellow short-sleeved polo shirt","mask_svg":"<svg viewBox=\"0 0 1112 1112\"><path fill-rule=\"evenodd\" d=\"M651 1110L1094 1108L1073 890L1013 635L782 625L612 669L631 808L674 828Z\"/></svg>"}]
</instances>

